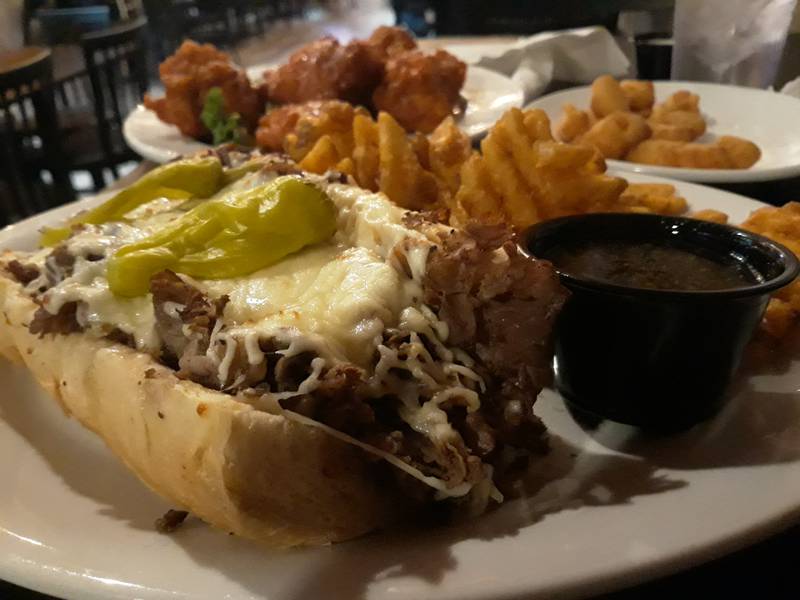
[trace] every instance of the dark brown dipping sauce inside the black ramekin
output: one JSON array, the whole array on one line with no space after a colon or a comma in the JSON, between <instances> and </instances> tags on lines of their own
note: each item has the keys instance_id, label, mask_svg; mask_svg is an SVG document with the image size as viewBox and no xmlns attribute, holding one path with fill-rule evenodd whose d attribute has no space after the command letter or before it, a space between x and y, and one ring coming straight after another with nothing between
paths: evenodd
<instances>
[{"instance_id":1,"label":"dark brown dipping sauce inside the black ramekin","mask_svg":"<svg viewBox=\"0 0 800 600\"><path fill-rule=\"evenodd\" d=\"M569 275L654 290L707 291L754 285L757 277L733 258L714 260L669 245L596 240L553 248L548 259Z\"/></svg>"}]
</instances>

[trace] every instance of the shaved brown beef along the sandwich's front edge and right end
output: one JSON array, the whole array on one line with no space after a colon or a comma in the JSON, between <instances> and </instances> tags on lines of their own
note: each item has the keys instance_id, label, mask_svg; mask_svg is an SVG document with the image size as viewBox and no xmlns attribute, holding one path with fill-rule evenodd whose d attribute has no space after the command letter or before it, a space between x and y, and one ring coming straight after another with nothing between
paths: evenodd
<instances>
[{"instance_id":1,"label":"shaved brown beef along the sandwich's front edge and right end","mask_svg":"<svg viewBox=\"0 0 800 600\"><path fill-rule=\"evenodd\" d=\"M522 255L502 228L476 226L464 232L434 226L424 217L407 221L423 230L430 227L439 239L427 263L424 301L448 325L448 344L478 359L473 368L487 385L481 410L468 413L465 399L448 399L440 408L456 433L432 438L400 418L398 398L375 397L366 373L353 365L329 368L312 394L283 399L281 405L373 444L450 485L477 483L484 477L484 463L498 467L506 460L505 445L542 450L544 427L533 404L549 381L550 333L566 291L549 263ZM403 253L395 259L410 271ZM171 271L155 275L150 288L165 346L162 358L175 364L179 377L231 393L247 388L286 392L297 390L312 372L316 354L285 356L286 343L262 339L261 363L251 365L244 344L239 343L226 381L219 381L217 361L207 351L227 298L208 298ZM420 340L436 354L432 340L425 335ZM223 337L215 343L227 342ZM410 337L408 332L389 329L383 343L402 358ZM224 348L215 352L219 356ZM402 369L392 373L401 379L411 376ZM396 476L401 485L407 479L399 471ZM410 488L419 491L416 485Z\"/></svg>"}]
</instances>

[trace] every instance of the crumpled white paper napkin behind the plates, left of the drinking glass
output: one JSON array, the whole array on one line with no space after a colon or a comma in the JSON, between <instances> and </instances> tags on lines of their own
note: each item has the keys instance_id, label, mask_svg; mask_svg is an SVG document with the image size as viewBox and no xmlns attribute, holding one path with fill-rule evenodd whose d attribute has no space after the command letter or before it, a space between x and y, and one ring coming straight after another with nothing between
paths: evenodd
<instances>
[{"instance_id":1,"label":"crumpled white paper napkin behind the plates, left of the drinking glass","mask_svg":"<svg viewBox=\"0 0 800 600\"><path fill-rule=\"evenodd\" d=\"M546 31L511 43L453 43L446 49L519 82L526 100L539 96L553 80L590 83L606 73L623 77L631 71L631 62L604 27Z\"/></svg>"}]
</instances>

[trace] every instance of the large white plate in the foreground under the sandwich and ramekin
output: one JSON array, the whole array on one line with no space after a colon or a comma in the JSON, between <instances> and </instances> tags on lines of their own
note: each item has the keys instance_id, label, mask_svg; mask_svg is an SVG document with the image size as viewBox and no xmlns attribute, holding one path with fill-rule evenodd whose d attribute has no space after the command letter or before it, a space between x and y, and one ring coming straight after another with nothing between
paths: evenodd
<instances>
[{"instance_id":1,"label":"large white plate in the foreground under the sandwich and ramekin","mask_svg":"<svg viewBox=\"0 0 800 600\"><path fill-rule=\"evenodd\" d=\"M693 208L735 221L759 206L676 186ZM0 232L0 247L30 247L41 225L75 208ZM554 436L548 465L561 477L536 497L462 526L279 552L191 519L171 536L156 533L154 519L170 506L0 361L0 578L87 600L598 594L732 551L799 516L800 365L774 367L742 378L714 421L671 438L609 423L587 433L545 392L538 412Z\"/></svg>"}]
</instances>

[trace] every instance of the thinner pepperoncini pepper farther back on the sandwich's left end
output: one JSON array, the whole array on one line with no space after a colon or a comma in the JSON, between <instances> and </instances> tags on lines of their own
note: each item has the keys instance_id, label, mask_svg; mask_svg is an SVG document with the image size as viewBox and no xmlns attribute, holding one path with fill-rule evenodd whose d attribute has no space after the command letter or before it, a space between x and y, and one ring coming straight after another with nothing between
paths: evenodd
<instances>
[{"instance_id":1,"label":"thinner pepperoncini pepper farther back on the sandwich's left end","mask_svg":"<svg viewBox=\"0 0 800 600\"><path fill-rule=\"evenodd\" d=\"M133 209L156 198L208 198L228 183L227 179L216 157L172 162L150 171L100 206L77 215L69 225L122 220ZM41 244L55 246L68 238L70 231L70 227L45 229Z\"/></svg>"}]
</instances>

